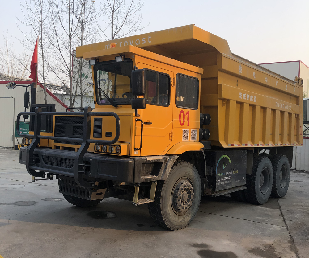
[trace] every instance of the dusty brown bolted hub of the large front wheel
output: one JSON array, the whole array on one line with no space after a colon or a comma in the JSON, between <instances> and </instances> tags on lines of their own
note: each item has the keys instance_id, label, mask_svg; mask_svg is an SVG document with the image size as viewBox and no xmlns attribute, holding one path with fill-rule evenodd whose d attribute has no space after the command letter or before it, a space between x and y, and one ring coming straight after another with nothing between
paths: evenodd
<instances>
[{"instance_id":1,"label":"dusty brown bolted hub of the large front wheel","mask_svg":"<svg viewBox=\"0 0 309 258\"><path fill-rule=\"evenodd\" d=\"M176 214L185 214L193 202L193 186L188 179L181 179L176 183L172 192L172 207Z\"/></svg>"}]
</instances>

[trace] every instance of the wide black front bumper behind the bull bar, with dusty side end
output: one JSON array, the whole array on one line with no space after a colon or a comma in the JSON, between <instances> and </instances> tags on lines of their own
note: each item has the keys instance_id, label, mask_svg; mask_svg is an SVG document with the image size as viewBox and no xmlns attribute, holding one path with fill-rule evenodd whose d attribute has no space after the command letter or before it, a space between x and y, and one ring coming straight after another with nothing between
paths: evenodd
<instances>
[{"instance_id":1,"label":"wide black front bumper behind the bull bar, with dusty side end","mask_svg":"<svg viewBox=\"0 0 309 258\"><path fill-rule=\"evenodd\" d=\"M28 148L20 148L19 163L26 165ZM34 170L76 177L76 152L37 147L33 154L36 157L32 166ZM132 184L165 180L177 158L176 155L125 158L86 153L83 156L83 176L88 180L97 178Z\"/></svg>"}]
</instances>

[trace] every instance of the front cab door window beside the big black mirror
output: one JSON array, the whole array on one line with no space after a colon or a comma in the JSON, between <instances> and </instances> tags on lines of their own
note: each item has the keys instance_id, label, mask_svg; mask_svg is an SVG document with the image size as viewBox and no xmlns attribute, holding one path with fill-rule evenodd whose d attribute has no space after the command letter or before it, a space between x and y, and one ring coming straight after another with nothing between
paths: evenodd
<instances>
[{"instance_id":1,"label":"front cab door window beside the big black mirror","mask_svg":"<svg viewBox=\"0 0 309 258\"><path fill-rule=\"evenodd\" d=\"M160 106L170 104L170 77L146 70L146 103Z\"/></svg>"}]
</instances>

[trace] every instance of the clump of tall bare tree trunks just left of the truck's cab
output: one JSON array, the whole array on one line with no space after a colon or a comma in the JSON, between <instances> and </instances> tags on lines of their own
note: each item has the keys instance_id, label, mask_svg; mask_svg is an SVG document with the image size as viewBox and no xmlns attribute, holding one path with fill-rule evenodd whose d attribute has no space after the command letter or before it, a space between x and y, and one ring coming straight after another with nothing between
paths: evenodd
<instances>
[{"instance_id":1,"label":"clump of tall bare tree trunks just left of the truck's cab","mask_svg":"<svg viewBox=\"0 0 309 258\"><path fill-rule=\"evenodd\" d=\"M95 12L95 1L91 0L49 0L51 10L51 25L53 28L51 42L53 49L53 63L51 71L62 84L69 84L69 102L73 107L76 96L81 94L81 106L85 84L79 74L75 76L72 71L73 50L77 46L92 42L96 36L94 26L97 14ZM82 60L77 60L78 67L82 67ZM75 63L74 63L75 65ZM87 86L89 88L89 86ZM86 89L87 93L87 89Z\"/></svg>"}]
</instances>

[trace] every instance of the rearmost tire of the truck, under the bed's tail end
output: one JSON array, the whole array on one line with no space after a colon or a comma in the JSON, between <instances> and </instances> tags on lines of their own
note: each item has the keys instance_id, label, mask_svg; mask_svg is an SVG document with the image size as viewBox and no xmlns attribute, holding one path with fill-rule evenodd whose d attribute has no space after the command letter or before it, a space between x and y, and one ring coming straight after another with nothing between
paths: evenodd
<instances>
[{"instance_id":1,"label":"rearmost tire of the truck, under the bed's tail end","mask_svg":"<svg viewBox=\"0 0 309 258\"><path fill-rule=\"evenodd\" d=\"M285 155L276 154L270 159L273 165L273 189L271 196L282 198L290 184L290 162Z\"/></svg>"}]
</instances>

